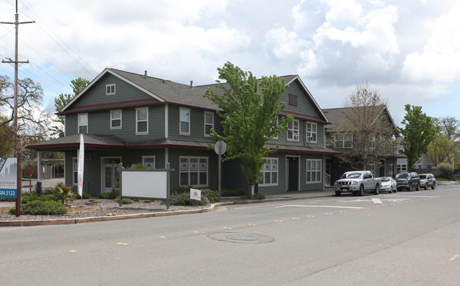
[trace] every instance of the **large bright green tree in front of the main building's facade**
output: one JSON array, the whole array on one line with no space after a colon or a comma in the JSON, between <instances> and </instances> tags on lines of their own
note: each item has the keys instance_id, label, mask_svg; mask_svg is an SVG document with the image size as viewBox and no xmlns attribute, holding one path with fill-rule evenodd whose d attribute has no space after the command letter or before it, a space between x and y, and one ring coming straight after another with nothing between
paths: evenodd
<instances>
[{"instance_id":1,"label":"large bright green tree in front of the main building's facade","mask_svg":"<svg viewBox=\"0 0 460 286\"><path fill-rule=\"evenodd\" d=\"M227 145L223 161L241 160L241 169L248 184L255 186L257 195L264 157L275 153L278 148L267 148L265 143L286 131L287 123L293 119L289 114L276 124L278 114L286 106L280 99L288 85L277 76L263 76L258 81L250 71L242 71L230 62L217 70L219 79L226 83L217 81L218 89L209 88L203 96L222 109L217 114L222 118L224 132L220 135L212 130L211 136Z\"/></svg>"}]
</instances>

